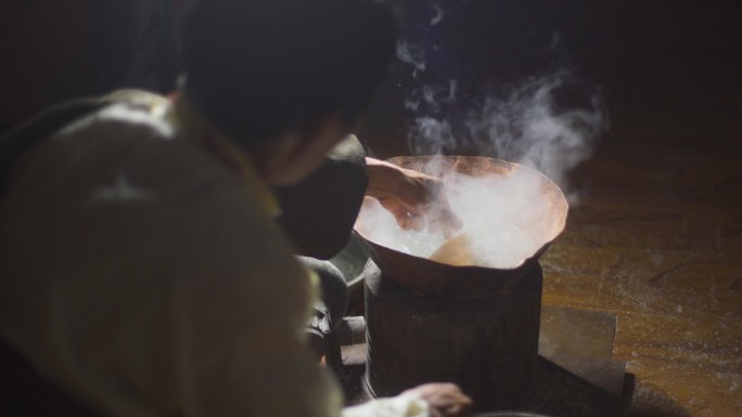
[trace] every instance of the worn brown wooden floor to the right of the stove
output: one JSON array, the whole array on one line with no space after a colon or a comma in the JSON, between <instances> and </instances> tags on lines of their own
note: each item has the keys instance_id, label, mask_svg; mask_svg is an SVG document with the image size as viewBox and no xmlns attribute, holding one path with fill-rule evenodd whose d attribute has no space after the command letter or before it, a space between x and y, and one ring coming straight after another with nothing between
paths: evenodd
<instances>
[{"instance_id":1,"label":"worn brown wooden floor to the right of the stove","mask_svg":"<svg viewBox=\"0 0 742 417\"><path fill-rule=\"evenodd\" d=\"M542 258L543 302L618 317L629 415L742 415L742 107L616 105Z\"/></svg>"}]
</instances>

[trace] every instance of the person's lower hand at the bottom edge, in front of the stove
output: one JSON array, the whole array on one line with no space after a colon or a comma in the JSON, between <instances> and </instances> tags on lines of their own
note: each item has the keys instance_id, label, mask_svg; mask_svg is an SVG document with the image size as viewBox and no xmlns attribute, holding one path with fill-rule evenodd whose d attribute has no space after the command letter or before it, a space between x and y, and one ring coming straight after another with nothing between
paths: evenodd
<instances>
[{"instance_id":1,"label":"person's lower hand at the bottom edge, in front of the stove","mask_svg":"<svg viewBox=\"0 0 742 417\"><path fill-rule=\"evenodd\" d=\"M453 383L425 383L402 392L417 396L430 405L431 417L466 417L474 403Z\"/></svg>"}]
</instances>

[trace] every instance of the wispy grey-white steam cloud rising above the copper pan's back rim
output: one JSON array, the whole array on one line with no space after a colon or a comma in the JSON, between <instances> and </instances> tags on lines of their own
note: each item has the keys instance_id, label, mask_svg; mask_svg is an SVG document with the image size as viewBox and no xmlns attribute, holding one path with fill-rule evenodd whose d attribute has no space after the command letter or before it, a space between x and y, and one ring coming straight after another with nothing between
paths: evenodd
<instances>
[{"instance_id":1,"label":"wispy grey-white steam cloud rising above the copper pan's back rim","mask_svg":"<svg viewBox=\"0 0 742 417\"><path fill-rule=\"evenodd\" d=\"M567 94L580 103L560 104L560 95ZM559 73L513 88L502 96L489 95L458 125L446 118L420 116L409 140L414 155L473 147L477 155L534 168L567 192L568 172L592 156L606 129L600 93Z\"/></svg>"}]
</instances>

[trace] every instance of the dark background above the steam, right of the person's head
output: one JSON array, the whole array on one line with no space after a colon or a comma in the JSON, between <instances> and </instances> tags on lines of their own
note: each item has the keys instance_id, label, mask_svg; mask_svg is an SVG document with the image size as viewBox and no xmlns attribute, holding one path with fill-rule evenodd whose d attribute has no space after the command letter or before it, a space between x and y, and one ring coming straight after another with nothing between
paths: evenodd
<instances>
[{"instance_id":1,"label":"dark background above the steam, right of the person's head","mask_svg":"<svg viewBox=\"0 0 742 417\"><path fill-rule=\"evenodd\" d=\"M411 66L397 61L380 90L364 133L382 156L404 153L411 118L425 115L404 109L404 100L420 84L449 78L459 81L465 105L488 90L567 69L602 93L614 127L648 112L742 116L742 24L731 2L438 3L446 13L431 26L431 2L407 2L413 12L402 37L426 44L427 67L414 79Z\"/></svg>"}]
</instances>

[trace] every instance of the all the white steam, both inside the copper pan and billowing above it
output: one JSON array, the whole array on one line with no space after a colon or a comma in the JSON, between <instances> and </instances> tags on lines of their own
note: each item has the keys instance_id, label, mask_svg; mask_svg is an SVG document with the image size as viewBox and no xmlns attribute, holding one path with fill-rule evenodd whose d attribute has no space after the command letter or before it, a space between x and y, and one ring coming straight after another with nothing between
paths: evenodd
<instances>
[{"instance_id":1,"label":"all the white steam, both inside the copper pan and billowing above it","mask_svg":"<svg viewBox=\"0 0 742 417\"><path fill-rule=\"evenodd\" d=\"M400 42L397 54L414 66L413 75L425 69L422 50ZM450 115L442 114L436 101L452 103L456 87L451 81L444 95L445 88L423 86L406 103L407 108L421 114L409 133L413 155L475 149L478 156L520 162L552 179L575 203L575 194L566 190L567 173L590 158L599 135L607 128L602 101L594 90L560 73L529 81L502 96L490 95L463 119L447 118ZM559 94L575 92L580 103L558 103ZM574 96L568 99L574 102ZM435 168L426 170L444 180L451 209L463 223L457 232L459 239L453 240L463 242L468 251L469 259L461 264L515 268L553 237L545 232L549 207L540 194L542 178L538 173L517 170L510 175L472 178ZM427 222L422 231L401 230L378 201L366 204L360 219L362 233L371 240L413 256L435 258L450 242L440 232L428 231Z\"/></svg>"}]
</instances>

